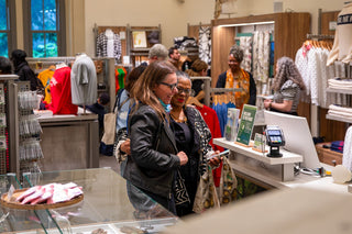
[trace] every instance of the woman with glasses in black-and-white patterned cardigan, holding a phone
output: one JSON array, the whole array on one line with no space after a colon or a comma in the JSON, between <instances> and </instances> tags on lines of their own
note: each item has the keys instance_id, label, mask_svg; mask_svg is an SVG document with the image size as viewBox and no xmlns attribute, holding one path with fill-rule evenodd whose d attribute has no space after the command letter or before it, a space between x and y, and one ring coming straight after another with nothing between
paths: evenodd
<instances>
[{"instance_id":1,"label":"woman with glasses in black-and-white patterned cardigan, holding a phone","mask_svg":"<svg viewBox=\"0 0 352 234\"><path fill-rule=\"evenodd\" d=\"M186 73L177 71L177 93L172 98L170 127L176 138L178 151L185 152L188 163L180 167L180 175L185 180L190 202L176 207L177 215L193 213L194 201L200 176L206 171L206 155L218 154L209 144L211 133L200 112L185 103L191 92L191 80ZM219 165L220 159L215 157L210 165Z\"/></svg>"}]
</instances>

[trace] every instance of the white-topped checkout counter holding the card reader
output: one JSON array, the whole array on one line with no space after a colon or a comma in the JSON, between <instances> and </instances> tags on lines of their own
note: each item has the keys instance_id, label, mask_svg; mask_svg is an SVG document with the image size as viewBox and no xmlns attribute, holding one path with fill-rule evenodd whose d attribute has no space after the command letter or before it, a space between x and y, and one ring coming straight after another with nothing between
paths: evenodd
<instances>
[{"instance_id":1,"label":"white-topped checkout counter holding the card reader","mask_svg":"<svg viewBox=\"0 0 352 234\"><path fill-rule=\"evenodd\" d=\"M213 144L230 149L230 164L234 174L265 189L285 189L307 187L333 192L348 193L348 185L336 183L331 176L295 174L294 163L301 160L301 156L287 151L282 151L282 158L268 158L265 154L229 142L226 138L215 138ZM321 164L330 170L332 166ZM293 177L292 177L293 176Z\"/></svg>"}]
</instances>

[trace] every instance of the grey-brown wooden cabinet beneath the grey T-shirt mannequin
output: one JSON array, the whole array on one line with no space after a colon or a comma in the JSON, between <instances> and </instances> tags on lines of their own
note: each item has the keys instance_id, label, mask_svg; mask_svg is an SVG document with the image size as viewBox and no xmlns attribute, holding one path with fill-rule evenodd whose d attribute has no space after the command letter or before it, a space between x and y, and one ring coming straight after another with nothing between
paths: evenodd
<instances>
[{"instance_id":1,"label":"grey-brown wooden cabinet beneath the grey T-shirt mannequin","mask_svg":"<svg viewBox=\"0 0 352 234\"><path fill-rule=\"evenodd\" d=\"M97 114L40 116L38 122L43 171L99 167Z\"/></svg>"}]
</instances>

